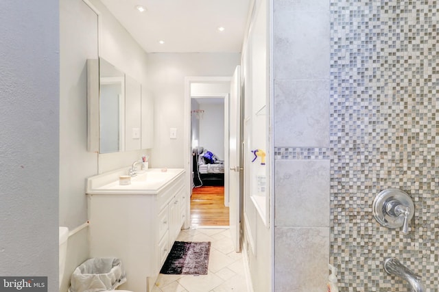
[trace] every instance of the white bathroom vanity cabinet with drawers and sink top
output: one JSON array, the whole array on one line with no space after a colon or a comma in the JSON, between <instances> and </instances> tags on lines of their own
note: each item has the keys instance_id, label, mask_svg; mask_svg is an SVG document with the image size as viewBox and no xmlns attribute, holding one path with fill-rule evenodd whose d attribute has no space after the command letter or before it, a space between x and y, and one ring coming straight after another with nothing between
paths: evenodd
<instances>
[{"instance_id":1,"label":"white bathroom vanity cabinet with drawers and sink top","mask_svg":"<svg viewBox=\"0 0 439 292\"><path fill-rule=\"evenodd\" d=\"M186 220L185 170L150 169L119 185L126 171L87 180L90 253L121 259L127 278L121 289L151 291Z\"/></svg>"}]
</instances>

